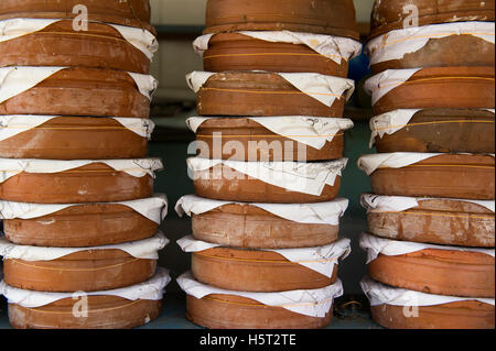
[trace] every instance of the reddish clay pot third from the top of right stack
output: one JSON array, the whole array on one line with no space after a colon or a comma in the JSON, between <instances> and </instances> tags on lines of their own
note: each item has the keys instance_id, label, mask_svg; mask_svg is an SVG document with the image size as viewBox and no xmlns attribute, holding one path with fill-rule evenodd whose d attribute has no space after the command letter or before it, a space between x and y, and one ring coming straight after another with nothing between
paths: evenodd
<instances>
[{"instance_id":1,"label":"reddish clay pot third from the top of right stack","mask_svg":"<svg viewBox=\"0 0 496 351\"><path fill-rule=\"evenodd\" d=\"M422 68L374 105L374 113L397 109L495 106L494 67ZM393 81L389 83L393 84ZM388 85L387 81L384 85Z\"/></svg>"}]
</instances>

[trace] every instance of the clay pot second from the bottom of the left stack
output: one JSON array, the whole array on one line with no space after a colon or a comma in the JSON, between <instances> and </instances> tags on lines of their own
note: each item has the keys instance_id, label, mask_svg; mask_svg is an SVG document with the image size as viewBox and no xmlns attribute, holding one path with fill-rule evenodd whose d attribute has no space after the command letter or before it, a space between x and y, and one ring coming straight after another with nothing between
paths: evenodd
<instances>
[{"instance_id":1,"label":"clay pot second from the bottom of the left stack","mask_svg":"<svg viewBox=\"0 0 496 351\"><path fill-rule=\"evenodd\" d=\"M36 292L98 292L143 283L157 260L136 259L121 250L87 250L53 261L3 261L8 285Z\"/></svg>"}]
</instances>

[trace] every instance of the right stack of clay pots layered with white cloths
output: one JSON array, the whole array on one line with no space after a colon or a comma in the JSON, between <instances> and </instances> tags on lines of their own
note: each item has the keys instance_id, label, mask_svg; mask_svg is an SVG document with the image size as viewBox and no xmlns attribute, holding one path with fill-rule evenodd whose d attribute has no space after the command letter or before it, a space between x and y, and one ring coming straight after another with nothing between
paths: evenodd
<instances>
[{"instance_id":1,"label":"right stack of clay pots layered with white cloths","mask_svg":"<svg viewBox=\"0 0 496 351\"><path fill-rule=\"evenodd\" d=\"M494 1L376 1L366 83L376 117L358 166L374 319L495 327ZM419 26L412 26L419 25Z\"/></svg>"}]
</instances>

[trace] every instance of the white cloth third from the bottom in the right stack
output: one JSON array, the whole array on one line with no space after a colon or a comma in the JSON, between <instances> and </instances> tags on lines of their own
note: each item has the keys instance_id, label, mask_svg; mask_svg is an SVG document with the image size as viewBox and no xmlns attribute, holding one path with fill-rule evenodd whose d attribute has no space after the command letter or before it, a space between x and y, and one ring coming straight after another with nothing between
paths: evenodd
<instances>
[{"instance_id":1,"label":"white cloth third from the bottom in the right stack","mask_svg":"<svg viewBox=\"0 0 496 351\"><path fill-rule=\"evenodd\" d=\"M445 198L424 198L424 197L405 197L405 196L380 196L375 194L363 194L360 196L362 206L368 211L392 211L402 212L410 208L419 206L419 202L427 200L463 201L483 206L493 212L495 211L495 201L490 200L467 200L467 199L445 199Z\"/></svg>"}]
</instances>

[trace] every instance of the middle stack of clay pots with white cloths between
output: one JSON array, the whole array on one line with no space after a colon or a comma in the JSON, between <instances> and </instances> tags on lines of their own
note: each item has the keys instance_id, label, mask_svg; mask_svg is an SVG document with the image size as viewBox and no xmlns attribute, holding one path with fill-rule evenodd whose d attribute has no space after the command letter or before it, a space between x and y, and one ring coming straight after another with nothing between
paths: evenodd
<instances>
[{"instance_id":1,"label":"middle stack of clay pots with white cloths between","mask_svg":"<svg viewBox=\"0 0 496 351\"><path fill-rule=\"evenodd\" d=\"M348 0L209 0L194 42L207 72L187 76L196 195L183 197L192 272L187 318L208 328L321 328L349 253L337 198L348 61L360 52Z\"/></svg>"}]
</instances>

